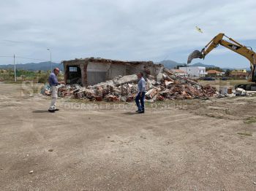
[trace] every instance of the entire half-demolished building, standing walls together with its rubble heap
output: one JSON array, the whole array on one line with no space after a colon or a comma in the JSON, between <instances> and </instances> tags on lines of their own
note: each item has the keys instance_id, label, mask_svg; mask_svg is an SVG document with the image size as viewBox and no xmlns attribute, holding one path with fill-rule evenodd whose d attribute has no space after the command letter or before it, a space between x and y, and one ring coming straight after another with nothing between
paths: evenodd
<instances>
[{"instance_id":1,"label":"entire half-demolished building, standing walls together with its rubble heap","mask_svg":"<svg viewBox=\"0 0 256 191\"><path fill-rule=\"evenodd\" d=\"M162 64L151 61L84 58L62 63L67 85L58 88L59 97L130 102L138 93L138 72L145 74L146 100L150 102L210 98L218 95L216 87L200 85L165 69ZM50 95L50 88L43 89L42 94Z\"/></svg>"}]
</instances>

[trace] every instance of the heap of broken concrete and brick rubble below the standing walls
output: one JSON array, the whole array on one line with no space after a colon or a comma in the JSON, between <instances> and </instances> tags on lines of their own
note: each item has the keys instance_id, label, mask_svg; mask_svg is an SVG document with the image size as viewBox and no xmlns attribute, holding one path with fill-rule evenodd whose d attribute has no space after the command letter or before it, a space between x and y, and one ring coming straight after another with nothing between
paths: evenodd
<instances>
[{"instance_id":1,"label":"heap of broken concrete and brick rubble below the standing walls","mask_svg":"<svg viewBox=\"0 0 256 191\"><path fill-rule=\"evenodd\" d=\"M217 89L209 85L202 86L191 79L176 76L168 69L156 77L146 75L146 100L163 101L166 99L209 98L217 95ZM138 93L138 78L135 74L119 76L106 82L88 87L66 85L59 87L60 97L75 97L90 101L124 101L135 99ZM45 91L44 91L45 92ZM48 92L45 95L49 95Z\"/></svg>"}]
</instances>

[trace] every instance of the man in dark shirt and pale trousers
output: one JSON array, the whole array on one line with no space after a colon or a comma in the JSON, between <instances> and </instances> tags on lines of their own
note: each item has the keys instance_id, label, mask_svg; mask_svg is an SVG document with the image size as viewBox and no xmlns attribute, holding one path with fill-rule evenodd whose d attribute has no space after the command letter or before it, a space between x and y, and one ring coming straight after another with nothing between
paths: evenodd
<instances>
[{"instance_id":1,"label":"man in dark shirt and pale trousers","mask_svg":"<svg viewBox=\"0 0 256 191\"><path fill-rule=\"evenodd\" d=\"M58 98L58 85L64 84L64 82L58 82L57 75L59 74L59 69L53 69L53 72L50 73L49 77L49 85L51 91L51 101L50 101L50 108L48 109L49 112L59 111L56 109L56 100Z\"/></svg>"}]
</instances>

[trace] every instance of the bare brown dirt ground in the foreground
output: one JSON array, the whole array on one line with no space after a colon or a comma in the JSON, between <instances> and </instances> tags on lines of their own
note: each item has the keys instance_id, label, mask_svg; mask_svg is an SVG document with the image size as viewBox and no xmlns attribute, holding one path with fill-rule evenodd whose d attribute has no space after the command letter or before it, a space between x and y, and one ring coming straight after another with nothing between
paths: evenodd
<instances>
[{"instance_id":1,"label":"bare brown dirt ground in the foreground","mask_svg":"<svg viewBox=\"0 0 256 191\"><path fill-rule=\"evenodd\" d=\"M49 113L25 89L0 84L0 190L256 190L256 97Z\"/></svg>"}]
</instances>

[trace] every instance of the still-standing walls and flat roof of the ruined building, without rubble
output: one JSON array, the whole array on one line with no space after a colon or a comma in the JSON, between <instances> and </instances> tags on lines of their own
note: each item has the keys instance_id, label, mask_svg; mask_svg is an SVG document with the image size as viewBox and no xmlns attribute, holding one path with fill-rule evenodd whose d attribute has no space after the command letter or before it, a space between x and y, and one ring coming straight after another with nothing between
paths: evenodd
<instances>
[{"instance_id":1,"label":"still-standing walls and flat roof of the ruined building, without rubble","mask_svg":"<svg viewBox=\"0 0 256 191\"><path fill-rule=\"evenodd\" d=\"M104 58L80 58L62 63L66 84L83 86L138 72L157 76L164 69L162 64L154 64L152 61L114 61Z\"/></svg>"}]
</instances>

